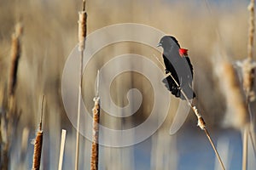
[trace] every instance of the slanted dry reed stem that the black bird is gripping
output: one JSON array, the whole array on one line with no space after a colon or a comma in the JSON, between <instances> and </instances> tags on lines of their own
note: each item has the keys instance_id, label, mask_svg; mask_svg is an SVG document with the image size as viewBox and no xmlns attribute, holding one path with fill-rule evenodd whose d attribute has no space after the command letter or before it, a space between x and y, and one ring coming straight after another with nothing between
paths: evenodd
<instances>
[{"instance_id":1,"label":"slanted dry reed stem that the black bird is gripping","mask_svg":"<svg viewBox=\"0 0 256 170\"><path fill-rule=\"evenodd\" d=\"M160 64L162 65L162 67L165 68L165 65L163 65L163 63L160 61L160 59L158 59L157 57L156 57L156 59L160 62ZM171 74L171 73L169 73L169 75L172 77L172 74ZM207 139L208 139L209 142L211 143L212 149L214 150L215 155L217 156L218 161L219 161L219 163L220 163L222 169L224 170L224 169L225 169L224 163L223 163L221 157L220 157L219 154L218 154L218 150L216 149L215 145L214 145L213 142L212 142L212 138L211 138L210 134L209 134L208 131L207 131L206 122L204 121L204 119L202 118L201 114L200 114L200 113L198 112L198 110L196 109L195 105L193 105L192 103L189 102L189 99L188 99L187 95L183 92L183 89L180 88L180 86L178 85L178 83L177 83L177 81L175 80L174 77L172 77L172 80L176 83L177 87L180 89L181 93L183 94L183 96L184 96L185 99L187 100L187 102L188 102L188 104L189 104L189 107L192 109L192 111L194 111L195 116L197 117L197 126L200 127L201 130L203 130L203 131L206 133Z\"/></svg>"}]
</instances>

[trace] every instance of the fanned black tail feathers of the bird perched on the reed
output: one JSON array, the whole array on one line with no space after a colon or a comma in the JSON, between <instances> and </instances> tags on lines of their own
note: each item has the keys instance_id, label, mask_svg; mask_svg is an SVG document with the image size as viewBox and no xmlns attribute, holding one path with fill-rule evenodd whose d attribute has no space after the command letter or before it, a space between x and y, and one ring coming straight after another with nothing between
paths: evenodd
<instances>
[{"instance_id":1,"label":"fanned black tail feathers of the bird perched on the reed","mask_svg":"<svg viewBox=\"0 0 256 170\"><path fill-rule=\"evenodd\" d=\"M164 82L166 88L177 98L185 99L183 94L181 93L180 88L177 86L177 84L173 81L171 76L168 76L162 80ZM193 89L188 85L185 85L182 87L184 94L188 97L188 99L195 98L195 92Z\"/></svg>"}]
</instances>

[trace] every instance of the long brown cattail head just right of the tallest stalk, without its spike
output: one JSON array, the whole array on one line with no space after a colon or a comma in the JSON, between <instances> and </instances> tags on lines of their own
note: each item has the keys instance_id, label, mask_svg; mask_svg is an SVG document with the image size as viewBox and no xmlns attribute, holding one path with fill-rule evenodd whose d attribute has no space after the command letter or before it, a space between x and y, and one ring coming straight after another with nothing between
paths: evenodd
<instances>
[{"instance_id":1,"label":"long brown cattail head just right of the tallest stalk, without its spike","mask_svg":"<svg viewBox=\"0 0 256 170\"><path fill-rule=\"evenodd\" d=\"M92 144L90 156L90 170L98 169L99 155L99 122L100 122L100 98L96 96L94 99L93 122L92 122Z\"/></svg>"}]
</instances>

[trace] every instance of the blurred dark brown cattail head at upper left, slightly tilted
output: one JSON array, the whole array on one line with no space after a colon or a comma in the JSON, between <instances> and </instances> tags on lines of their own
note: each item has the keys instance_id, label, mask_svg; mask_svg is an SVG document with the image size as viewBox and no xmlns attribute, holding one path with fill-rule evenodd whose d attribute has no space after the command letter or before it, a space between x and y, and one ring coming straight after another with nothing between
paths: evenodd
<instances>
[{"instance_id":1,"label":"blurred dark brown cattail head at upper left, slightly tilted","mask_svg":"<svg viewBox=\"0 0 256 170\"><path fill-rule=\"evenodd\" d=\"M10 66L10 73L9 73L9 95L15 94L17 71L18 71L19 59L21 54L20 36L22 32L23 32L23 27L19 22L16 24L15 32L12 35L11 66Z\"/></svg>"}]
</instances>

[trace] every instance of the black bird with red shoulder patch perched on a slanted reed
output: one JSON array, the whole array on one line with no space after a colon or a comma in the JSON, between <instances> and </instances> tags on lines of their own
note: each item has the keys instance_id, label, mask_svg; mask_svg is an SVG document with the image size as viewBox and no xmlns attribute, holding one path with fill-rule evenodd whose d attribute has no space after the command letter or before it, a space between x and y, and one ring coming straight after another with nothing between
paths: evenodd
<instances>
[{"instance_id":1,"label":"black bird with red shoulder patch perched on a slanted reed","mask_svg":"<svg viewBox=\"0 0 256 170\"><path fill-rule=\"evenodd\" d=\"M180 89L189 99L195 98L193 92L193 66L188 56L188 49L180 48L177 39L172 36L165 36L160 39L158 47L164 49L163 58L166 65L166 74L171 73L171 76L166 77L162 82L165 83L166 88L172 92L177 98L185 99L181 94Z\"/></svg>"}]
</instances>

